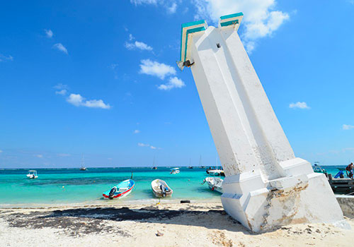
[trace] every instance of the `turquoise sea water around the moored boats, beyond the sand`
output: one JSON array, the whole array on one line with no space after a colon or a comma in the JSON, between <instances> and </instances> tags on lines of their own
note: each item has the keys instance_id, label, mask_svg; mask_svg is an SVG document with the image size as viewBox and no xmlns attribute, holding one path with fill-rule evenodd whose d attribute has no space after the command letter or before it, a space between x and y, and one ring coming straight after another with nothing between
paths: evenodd
<instances>
[{"instance_id":1,"label":"turquoise sea water around the moored boats, beyond the sand","mask_svg":"<svg viewBox=\"0 0 354 247\"><path fill-rule=\"evenodd\" d=\"M336 167L324 166L333 176L338 172ZM79 169L36 169L38 179L28 179L27 169L0 170L0 207L7 206L39 206L68 205L76 203L149 203L155 199L150 183L154 179L166 181L173 189L172 198L161 200L219 200L220 194L210 191L203 179L207 176L205 169L188 169L181 167L179 174L170 174L171 168L158 167L124 167L124 168L91 168ZM134 191L120 200L103 199L102 193L130 179L136 183ZM114 201L114 202L113 202Z\"/></svg>"}]
</instances>

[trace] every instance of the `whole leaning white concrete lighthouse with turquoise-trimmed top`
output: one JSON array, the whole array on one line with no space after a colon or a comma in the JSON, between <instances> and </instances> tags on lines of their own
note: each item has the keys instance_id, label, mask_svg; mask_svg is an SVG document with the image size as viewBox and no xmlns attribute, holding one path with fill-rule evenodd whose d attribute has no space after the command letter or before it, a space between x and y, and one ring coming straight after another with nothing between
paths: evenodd
<instances>
[{"instance_id":1,"label":"whole leaning white concrete lighthouse with turquoise-trimmed top","mask_svg":"<svg viewBox=\"0 0 354 247\"><path fill-rule=\"evenodd\" d=\"M182 25L191 68L226 174L222 205L252 231L327 222L348 227L324 174L295 157L237 34L242 13ZM306 140L304 140L306 141Z\"/></svg>"}]
</instances>

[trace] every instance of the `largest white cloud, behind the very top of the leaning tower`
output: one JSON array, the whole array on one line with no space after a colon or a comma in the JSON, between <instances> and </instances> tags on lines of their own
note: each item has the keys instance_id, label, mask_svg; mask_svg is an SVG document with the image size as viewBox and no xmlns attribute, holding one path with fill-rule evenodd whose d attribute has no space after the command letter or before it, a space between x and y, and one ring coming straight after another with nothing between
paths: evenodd
<instances>
[{"instance_id":1,"label":"largest white cloud, behind the very top of the leaning tower","mask_svg":"<svg viewBox=\"0 0 354 247\"><path fill-rule=\"evenodd\" d=\"M241 38L248 52L256 47L256 40L271 36L290 18L288 13L275 10L276 0L193 0L193 3L197 10L195 19L205 18L214 23L220 16L243 12L245 29Z\"/></svg>"}]
</instances>

